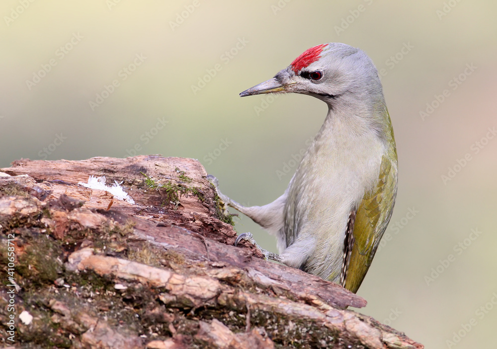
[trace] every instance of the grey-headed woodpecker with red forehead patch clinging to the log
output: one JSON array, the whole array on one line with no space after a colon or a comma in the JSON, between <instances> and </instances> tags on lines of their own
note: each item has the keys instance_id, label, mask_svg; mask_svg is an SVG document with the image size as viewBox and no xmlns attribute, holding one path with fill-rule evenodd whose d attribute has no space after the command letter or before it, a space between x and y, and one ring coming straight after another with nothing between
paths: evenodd
<instances>
[{"instance_id":1,"label":"grey-headed woodpecker with red forehead patch clinging to the log","mask_svg":"<svg viewBox=\"0 0 497 349\"><path fill-rule=\"evenodd\" d=\"M288 188L270 204L245 207L209 180L225 205L276 236L279 255L263 250L266 258L356 293L397 196L397 150L378 70L359 48L327 43L240 96L263 93L300 93L328 105ZM241 238L255 242L250 233Z\"/></svg>"}]
</instances>

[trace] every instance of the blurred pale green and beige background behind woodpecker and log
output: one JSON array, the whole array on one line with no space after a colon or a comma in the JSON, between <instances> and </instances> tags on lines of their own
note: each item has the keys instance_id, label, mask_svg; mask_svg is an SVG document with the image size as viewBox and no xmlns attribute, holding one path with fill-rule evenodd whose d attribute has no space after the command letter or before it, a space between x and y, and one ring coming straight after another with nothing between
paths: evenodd
<instances>
[{"instance_id":1,"label":"blurred pale green and beige background behind woodpecker and log","mask_svg":"<svg viewBox=\"0 0 497 349\"><path fill-rule=\"evenodd\" d=\"M426 348L495 346L495 1L5 0L0 13L0 166L192 157L245 205L283 193L327 107L239 92L312 46L363 49L383 71L399 192L360 311ZM247 217L237 230L276 251Z\"/></svg>"}]
</instances>

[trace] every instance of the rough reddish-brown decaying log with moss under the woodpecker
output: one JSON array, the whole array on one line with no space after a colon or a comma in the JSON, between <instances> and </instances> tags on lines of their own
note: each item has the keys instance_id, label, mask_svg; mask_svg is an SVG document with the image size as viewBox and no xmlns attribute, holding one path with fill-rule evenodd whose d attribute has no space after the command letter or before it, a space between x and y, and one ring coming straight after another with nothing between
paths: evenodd
<instances>
[{"instance_id":1,"label":"rough reddish-brown decaying log with moss under the woodpecker","mask_svg":"<svg viewBox=\"0 0 497 349\"><path fill-rule=\"evenodd\" d=\"M12 287L15 314L33 316L16 318L15 347L423 348L347 310L366 302L339 285L234 247L196 160L18 160L0 171L10 175L0 177L1 277L13 234L17 285L0 288L0 320ZM103 175L135 204L78 185Z\"/></svg>"}]
</instances>

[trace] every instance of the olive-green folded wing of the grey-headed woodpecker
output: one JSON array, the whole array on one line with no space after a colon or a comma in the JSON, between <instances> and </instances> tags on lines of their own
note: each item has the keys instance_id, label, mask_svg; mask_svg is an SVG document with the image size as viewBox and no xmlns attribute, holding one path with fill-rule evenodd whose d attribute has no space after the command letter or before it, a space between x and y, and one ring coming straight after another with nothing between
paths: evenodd
<instances>
[{"instance_id":1,"label":"olive-green folded wing of the grey-headed woodpecker","mask_svg":"<svg viewBox=\"0 0 497 349\"><path fill-rule=\"evenodd\" d=\"M346 271L345 288L357 292L380 239L392 216L397 194L397 154L393 151L383 155L378 184L364 195L355 214L353 226L354 244Z\"/></svg>"}]
</instances>

